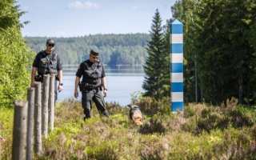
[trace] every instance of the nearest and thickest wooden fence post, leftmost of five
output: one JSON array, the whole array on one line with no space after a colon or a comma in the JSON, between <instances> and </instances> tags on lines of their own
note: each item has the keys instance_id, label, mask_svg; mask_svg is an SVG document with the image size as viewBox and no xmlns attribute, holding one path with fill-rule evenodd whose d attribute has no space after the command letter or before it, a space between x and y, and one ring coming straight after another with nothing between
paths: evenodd
<instances>
[{"instance_id":1,"label":"nearest and thickest wooden fence post, leftmost of five","mask_svg":"<svg viewBox=\"0 0 256 160\"><path fill-rule=\"evenodd\" d=\"M12 159L26 159L27 101L14 101Z\"/></svg>"}]
</instances>

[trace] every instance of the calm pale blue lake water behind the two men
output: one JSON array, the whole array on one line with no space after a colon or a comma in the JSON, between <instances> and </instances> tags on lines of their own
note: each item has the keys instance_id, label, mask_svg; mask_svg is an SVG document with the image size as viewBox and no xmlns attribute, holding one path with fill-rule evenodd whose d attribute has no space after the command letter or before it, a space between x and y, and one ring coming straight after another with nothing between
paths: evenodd
<instances>
[{"instance_id":1,"label":"calm pale blue lake water behind the two men","mask_svg":"<svg viewBox=\"0 0 256 160\"><path fill-rule=\"evenodd\" d=\"M78 66L63 66L63 90L58 94L58 100L74 98L74 80ZM144 70L142 66L104 66L106 74L107 96L105 102L117 102L121 106L130 104L134 91L144 92ZM78 99L82 94L79 92Z\"/></svg>"}]
</instances>

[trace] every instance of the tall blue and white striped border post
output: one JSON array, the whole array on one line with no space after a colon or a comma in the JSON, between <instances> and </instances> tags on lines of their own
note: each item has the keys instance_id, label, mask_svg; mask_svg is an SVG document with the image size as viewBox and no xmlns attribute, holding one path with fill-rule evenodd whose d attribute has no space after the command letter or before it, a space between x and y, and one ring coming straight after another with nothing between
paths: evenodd
<instances>
[{"instance_id":1,"label":"tall blue and white striped border post","mask_svg":"<svg viewBox=\"0 0 256 160\"><path fill-rule=\"evenodd\" d=\"M183 110L183 25L170 24L170 97L171 111Z\"/></svg>"}]
</instances>

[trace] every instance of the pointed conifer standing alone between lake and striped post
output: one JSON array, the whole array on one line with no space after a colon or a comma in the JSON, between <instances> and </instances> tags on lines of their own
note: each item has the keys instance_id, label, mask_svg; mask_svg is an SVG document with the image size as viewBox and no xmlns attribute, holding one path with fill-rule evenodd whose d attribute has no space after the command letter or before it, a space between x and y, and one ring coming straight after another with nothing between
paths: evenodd
<instances>
[{"instance_id":1,"label":"pointed conifer standing alone between lake and striped post","mask_svg":"<svg viewBox=\"0 0 256 160\"><path fill-rule=\"evenodd\" d=\"M144 96L155 99L161 99L163 96L170 95L170 60L168 51L166 51L165 36L161 26L162 19L158 10L154 14L150 30L150 41L147 41L146 52L149 54L146 58L146 64L143 66L146 76L142 88L146 90ZM166 66L166 64L168 64ZM166 75L169 81L166 82ZM168 88L169 85L169 88Z\"/></svg>"}]
</instances>

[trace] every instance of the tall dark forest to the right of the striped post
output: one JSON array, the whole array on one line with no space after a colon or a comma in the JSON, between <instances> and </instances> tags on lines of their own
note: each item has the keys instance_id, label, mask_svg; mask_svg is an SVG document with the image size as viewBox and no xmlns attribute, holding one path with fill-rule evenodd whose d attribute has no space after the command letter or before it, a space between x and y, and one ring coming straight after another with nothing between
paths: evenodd
<instances>
[{"instance_id":1,"label":"tall dark forest to the right of the striped post","mask_svg":"<svg viewBox=\"0 0 256 160\"><path fill-rule=\"evenodd\" d=\"M255 2L178 0L171 7L184 25L186 102L255 102Z\"/></svg>"}]
</instances>

